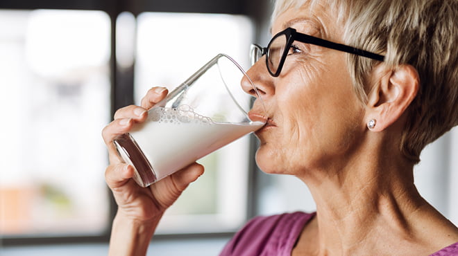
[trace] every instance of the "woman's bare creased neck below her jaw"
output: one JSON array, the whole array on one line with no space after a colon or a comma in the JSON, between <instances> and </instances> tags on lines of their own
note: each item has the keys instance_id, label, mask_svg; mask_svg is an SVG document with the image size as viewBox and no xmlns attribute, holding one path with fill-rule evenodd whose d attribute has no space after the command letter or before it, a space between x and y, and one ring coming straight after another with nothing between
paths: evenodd
<instances>
[{"instance_id":1,"label":"woman's bare creased neck below her jaw","mask_svg":"<svg viewBox=\"0 0 458 256\"><path fill-rule=\"evenodd\" d=\"M415 237L418 209L427 203L414 186L413 164L386 154L344 159L300 177L316 201L320 254L359 255Z\"/></svg>"}]
</instances>

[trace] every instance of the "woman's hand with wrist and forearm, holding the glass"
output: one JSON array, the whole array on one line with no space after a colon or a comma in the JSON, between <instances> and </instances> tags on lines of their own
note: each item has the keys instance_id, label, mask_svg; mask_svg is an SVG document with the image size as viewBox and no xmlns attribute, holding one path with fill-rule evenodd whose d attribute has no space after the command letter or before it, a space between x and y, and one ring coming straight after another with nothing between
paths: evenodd
<instances>
[{"instance_id":1,"label":"woman's hand with wrist and forearm, holding the glass","mask_svg":"<svg viewBox=\"0 0 458 256\"><path fill-rule=\"evenodd\" d=\"M183 170L142 188L133 179L133 167L123 163L114 137L125 134L136 122L144 122L151 109L167 95L167 89L150 89L142 99L141 107L130 105L116 111L114 120L107 125L102 136L108 147L110 165L105 180L113 192L118 211L113 221L109 255L146 255L151 237L164 211L178 199L189 183L203 173L203 166L193 163Z\"/></svg>"}]
</instances>

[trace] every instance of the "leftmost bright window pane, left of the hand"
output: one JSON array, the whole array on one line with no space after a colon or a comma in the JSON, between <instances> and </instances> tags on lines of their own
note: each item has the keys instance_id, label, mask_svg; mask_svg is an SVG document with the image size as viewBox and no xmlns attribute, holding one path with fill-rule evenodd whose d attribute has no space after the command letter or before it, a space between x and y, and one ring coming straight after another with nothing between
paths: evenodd
<instances>
[{"instance_id":1,"label":"leftmost bright window pane, left of the hand","mask_svg":"<svg viewBox=\"0 0 458 256\"><path fill-rule=\"evenodd\" d=\"M1 10L0 56L0 233L101 232L108 15Z\"/></svg>"}]
</instances>

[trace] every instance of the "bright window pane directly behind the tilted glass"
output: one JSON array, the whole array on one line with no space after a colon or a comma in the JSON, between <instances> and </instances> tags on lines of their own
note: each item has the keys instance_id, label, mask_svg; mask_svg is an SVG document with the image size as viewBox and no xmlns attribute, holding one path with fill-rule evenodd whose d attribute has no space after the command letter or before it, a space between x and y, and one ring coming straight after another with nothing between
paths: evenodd
<instances>
[{"instance_id":1,"label":"bright window pane directly behind the tilted glass","mask_svg":"<svg viewBox=\"0 0 458 256\"><path fill-rule=\"evenodd\" d=\"M218 53L246 68L252 39L251 21L239 15L139 15L136 102L151 86L173 89ZM245 136L198 161L205 174L166 212L158 232L223 232L241 225L246 219L248 145Z\"/></svg>"}]
</instances>

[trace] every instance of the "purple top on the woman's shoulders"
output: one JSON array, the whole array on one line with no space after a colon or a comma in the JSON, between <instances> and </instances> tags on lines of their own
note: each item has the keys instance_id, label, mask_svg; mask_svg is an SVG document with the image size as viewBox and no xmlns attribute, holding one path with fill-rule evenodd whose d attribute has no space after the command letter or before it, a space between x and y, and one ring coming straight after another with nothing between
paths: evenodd
<instances>
[{"instance_id":1,"label":"purple top on the woman's shoulders","mask_svg":"<svg viewBox=\"0 0 458 256\"><path fill-rule=\"evenodd\" d=\"M220 256L290 256L304 226L315 213L293 212L255 217L239 230ZM458 242L430 256L458 255Z\"/></svg>"}]
</instances>

